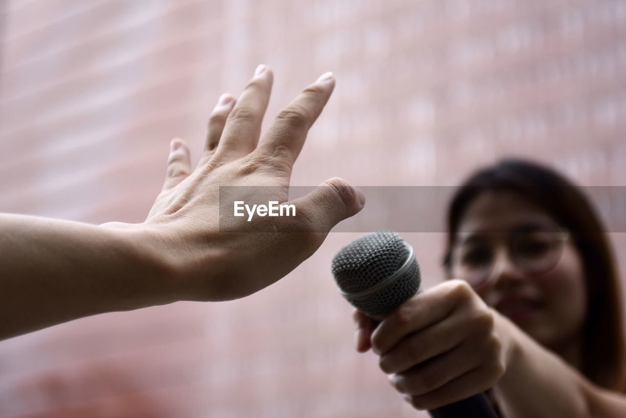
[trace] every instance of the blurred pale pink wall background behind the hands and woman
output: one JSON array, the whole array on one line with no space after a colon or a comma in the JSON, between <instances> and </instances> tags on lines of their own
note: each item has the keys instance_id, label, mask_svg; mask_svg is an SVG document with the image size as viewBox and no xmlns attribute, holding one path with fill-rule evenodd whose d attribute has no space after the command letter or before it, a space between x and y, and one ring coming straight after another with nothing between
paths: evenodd
<instances>
[{"instance_id":1,"label":"blurred pale pink wall background behind the hands and woman","mask_svg":"<svg viewBox=\"0 0 626 418\"><path fill-rule=\"evenodd\" d=\"M503 156L626 184L626 2L0 2L0 211L141 222L168 144L274 69L266 124L326 71L336 90L292 184L455 185ZM382 215L382 214L381 214ZM0 342L1 417L416 417L354 351L331 233L240 301L88 317ZM624 271L626 234L611 234ZM443 234L404 234L426 286ZM434 242L434 244L433 244ZM36 309L34 306L33 309Z\"/></svg>"}]
</instances>

